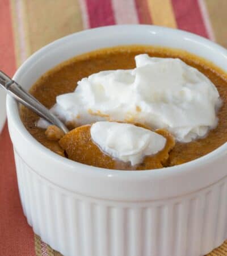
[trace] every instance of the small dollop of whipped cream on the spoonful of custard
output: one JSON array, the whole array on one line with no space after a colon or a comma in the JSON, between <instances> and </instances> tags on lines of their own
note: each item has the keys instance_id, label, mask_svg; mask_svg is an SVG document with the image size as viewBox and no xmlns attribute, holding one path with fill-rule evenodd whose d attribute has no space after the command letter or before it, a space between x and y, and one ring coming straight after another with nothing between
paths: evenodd
<instances>
[{"instance_id":1,"label":"small dollop of whipped cream on the spoonful of custard","mask_svg":"<svg viewBox=\"0 0 227 256\"><path fill-rule=\"evenodd\" d=\"M96 122L91 125L93 142L112 158L139 164L146 155L154 155L166 144L166 138L129 123Z\"/></svg>"}]
</instances>

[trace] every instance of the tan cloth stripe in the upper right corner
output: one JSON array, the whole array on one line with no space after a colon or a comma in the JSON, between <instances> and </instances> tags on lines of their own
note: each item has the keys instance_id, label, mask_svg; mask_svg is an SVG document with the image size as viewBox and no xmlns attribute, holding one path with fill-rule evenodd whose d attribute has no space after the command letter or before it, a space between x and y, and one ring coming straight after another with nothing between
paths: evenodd
<instances>
[{"instance_id":1,"label":"tan cloth stripe in the upper right corner","mask_svg":"<svg viewBox=\"0 0 227 256\"><path fill-rule=\"evenodd\" d=\"M226 0L205 0L209 13L209 19L215 34L216 42L227 47L227 1Z\"/></svg>"}]
</instances>

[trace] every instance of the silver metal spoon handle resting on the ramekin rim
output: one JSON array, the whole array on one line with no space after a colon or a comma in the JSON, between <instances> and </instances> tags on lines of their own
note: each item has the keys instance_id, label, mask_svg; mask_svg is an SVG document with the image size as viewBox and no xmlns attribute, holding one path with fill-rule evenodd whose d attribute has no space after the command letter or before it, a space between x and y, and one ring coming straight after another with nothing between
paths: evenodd
<instances>
[{"instance_id":1,"label":"silver metal spoon handle resting on the ramekin rim","mask_svg":"<svg viewBox=\"0 0 227 256\"><path fill-rule=\"evenodd\" d=\"M59 127L62 131L64 131L64 133L68 133L68 128L60 121L60 119L53 115L49 109L45 108L45 106L41 104L35 97L26 92L22 86L20 86L2 71L0 71L0 85L7 91L7 93L9 93L21 104L31 109L40 117L43 117L48 122Z\"/></svg>"}]
</instances>

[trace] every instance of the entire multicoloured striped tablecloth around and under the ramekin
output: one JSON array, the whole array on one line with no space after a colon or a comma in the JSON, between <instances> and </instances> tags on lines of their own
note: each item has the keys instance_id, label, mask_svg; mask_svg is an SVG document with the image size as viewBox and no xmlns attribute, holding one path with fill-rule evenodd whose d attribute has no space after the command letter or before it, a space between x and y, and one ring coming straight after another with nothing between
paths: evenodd
<instances>
[{"instance_id":1,"label":"entire multicoloured striped tablecloth around and under the ramekin","mask_svg":"<svg viewBox=\"0 0 227 256\"><path fill-rule=\"evenodd\" d=\"M226 13L227 0L0 0L0 69L13 75L45 44L111 24L180 28L227 47ZM60 255L40 241L23 216L7 125L0 134L0 255ZM227 242L209 254L215 255L227 255Z\"/></svg>"}]
</instances>

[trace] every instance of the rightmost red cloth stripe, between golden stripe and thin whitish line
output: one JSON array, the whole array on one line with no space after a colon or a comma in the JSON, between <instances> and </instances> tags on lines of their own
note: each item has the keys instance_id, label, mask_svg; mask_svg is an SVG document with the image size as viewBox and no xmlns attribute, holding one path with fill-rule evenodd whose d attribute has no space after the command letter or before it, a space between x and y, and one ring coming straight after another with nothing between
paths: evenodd
<instances>
[{"instance_id":1,"label":"rightmost red cloth stripe, between golden stripe and thin whitish line","mask_svg":"<svg viewBox=\"0 0 227 256\"><path fill-rule=\"evenodd\" d=\"M208 38L197 0L172 0L172 2L178 28Z\"/></svg>"}]
</instances>

